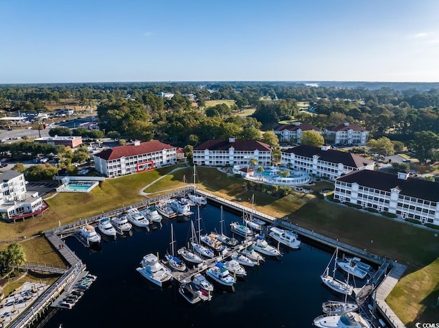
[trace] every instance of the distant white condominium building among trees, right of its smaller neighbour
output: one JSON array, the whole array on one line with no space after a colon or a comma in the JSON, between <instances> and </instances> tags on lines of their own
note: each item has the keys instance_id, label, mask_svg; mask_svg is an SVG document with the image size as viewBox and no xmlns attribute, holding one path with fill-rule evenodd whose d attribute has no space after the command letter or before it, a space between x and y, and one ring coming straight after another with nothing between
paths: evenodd
<instances>
[{"instance_id":1,"label":"distant white condominium building among trees, right of its smaller neighbour","mask_svg":"<svg viewBox=\"0 0 439 328\"><path fill-rule=\"evenodd\" d=\"M357 124L344 123L324 129L326 142L332 144L366 144L369 131Z\"/></svg>"}]
</instances>

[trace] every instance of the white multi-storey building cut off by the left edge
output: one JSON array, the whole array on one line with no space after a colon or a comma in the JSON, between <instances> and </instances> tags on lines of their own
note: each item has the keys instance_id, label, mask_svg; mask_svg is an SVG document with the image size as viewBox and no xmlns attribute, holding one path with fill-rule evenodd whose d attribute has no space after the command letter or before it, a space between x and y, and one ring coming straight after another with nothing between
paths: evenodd
<instances>
[{"instance_id":1,"label":"white multi-storey building cut off by the left edge","mask_svg":"<svg viewBox=\"0 0 439 328\"><path fill-rule=\"evenodd\" d=\"M0 215L3 219L16 220L42 213L49 208L38 192L27 192L23 173L0 173Z\"/></svg>"}]
</instances>

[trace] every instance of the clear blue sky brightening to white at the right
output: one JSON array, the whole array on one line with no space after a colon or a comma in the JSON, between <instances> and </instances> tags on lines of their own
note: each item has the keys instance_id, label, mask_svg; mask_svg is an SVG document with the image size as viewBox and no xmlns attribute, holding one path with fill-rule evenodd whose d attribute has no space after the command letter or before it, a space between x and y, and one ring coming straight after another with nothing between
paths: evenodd
<instances>
[{"instance_id":1,"label":"clear blue sky brightening to white at the right","mask_svg":"<svg viewBox=\"0 0 439 328\"><path fill-rule=\"evenodd\" d=\"M0 84L438 81L439 1L0 1Z\"/></svg>"}]
</instances>

